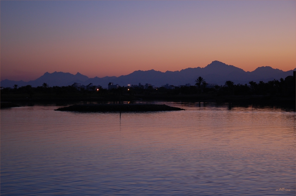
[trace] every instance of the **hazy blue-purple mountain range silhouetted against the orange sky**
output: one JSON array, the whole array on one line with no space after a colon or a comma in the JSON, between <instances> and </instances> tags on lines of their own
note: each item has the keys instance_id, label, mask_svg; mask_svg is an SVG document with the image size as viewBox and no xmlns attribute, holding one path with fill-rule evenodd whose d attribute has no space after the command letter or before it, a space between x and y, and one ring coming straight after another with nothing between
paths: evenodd
<instances>
[{"instance_id":1,"label":"hazy blue-purple mountain range silhouetted against the orange sky","mask_svg":"<svg viewBox=\"0 0 296 196\"><path fill-rule=\"evenodd\" d=\"M296 69L294 69L296 70ZM273 69L272 67L258 67L252 72L245 72L244 70L235 67L233 65L226 65L220 61L213 61L206 67L187 68L181 71L166 71L160 72L155 70L148 71L134 71L128 75L121 75L119 77L103 77L103 78L88 78L85 75L77 73L76 75L63 72L44 73L40 78L36 80L24 82L24 81L12 81L2 80L1 87L13 87L17 84L19 86L32 85L33 87L41 86L44 82L49 86L67 86L72 85L74 82L87 85L94 83L94 85L101 85L103 88L107 88L109 82L119 84L120 86L126 86L128 84L145 84L149 83L160 87L161 85L185 85L190 83L194 85L194 80L201 76L209 84L224 85L226 80L231 80L235 84L245 84L249 81L268 82L269 80L279 80L280 78L286 78L289 75L293 75L293 70L282 71L279 69Z\"/></svg>"}]
</instances>

